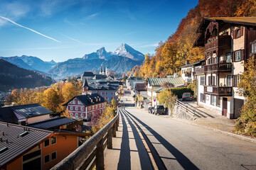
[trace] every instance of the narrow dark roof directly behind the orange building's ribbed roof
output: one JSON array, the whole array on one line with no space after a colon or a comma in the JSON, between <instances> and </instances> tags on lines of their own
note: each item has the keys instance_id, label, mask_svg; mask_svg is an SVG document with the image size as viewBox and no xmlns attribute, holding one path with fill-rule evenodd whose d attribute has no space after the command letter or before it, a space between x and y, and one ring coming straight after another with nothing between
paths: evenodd
<instances>
[{"instance_id":1,"label":"narrow dark roof directly behind the orange building's ribbed roof","mask_svg":"<svg viewBox=\"0 0 256 170\"><path fill-rule=\"evenodd\" d=\"M73 123L73 122L75 122L75 120L72 120L66 117L60 117L60 118L53 118L50 120L44 120L38 123L31 123L28 126L31 126L33 128L40 128L40 129L50 129L50 128L58 127L60 125Z\"/></svg>"}]
</instances>

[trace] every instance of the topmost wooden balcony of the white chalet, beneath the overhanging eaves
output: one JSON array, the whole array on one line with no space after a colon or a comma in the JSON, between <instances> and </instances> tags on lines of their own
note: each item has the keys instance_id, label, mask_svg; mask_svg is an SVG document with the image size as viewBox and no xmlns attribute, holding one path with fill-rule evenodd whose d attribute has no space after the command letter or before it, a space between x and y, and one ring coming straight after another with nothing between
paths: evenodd
<instances>
[{"instance_id":1,"label":"topmost wooden balcony of the white chalet, beneath the overhanging eaves","mask_svg":"<svg viewBox=\"0 0 256 170\"><path fill-rule=\"evenodd\" d=\"M231 36L220 35L218 40L207 42L205 47L206 47L206 52L209 52L211 50L216 50L217 48L231 48Z\"/></svg>"}]
</instances>

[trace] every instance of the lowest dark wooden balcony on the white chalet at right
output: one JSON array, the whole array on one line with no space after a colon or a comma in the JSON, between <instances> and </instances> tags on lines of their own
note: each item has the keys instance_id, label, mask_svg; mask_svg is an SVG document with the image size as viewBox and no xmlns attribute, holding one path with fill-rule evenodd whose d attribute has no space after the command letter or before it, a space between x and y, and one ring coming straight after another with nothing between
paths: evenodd
<instances>
[{"instance_id":1,"label":"lowest dark wooden balcony on the white chalet at right","mask_svg":"<svg viewBox=\"0 0 256 170\"><path fill-rule=\"evenodd\" d=\"M204 86L204 94L215 96L232 96L232 86Z\"/></svg>"}]
</instances>

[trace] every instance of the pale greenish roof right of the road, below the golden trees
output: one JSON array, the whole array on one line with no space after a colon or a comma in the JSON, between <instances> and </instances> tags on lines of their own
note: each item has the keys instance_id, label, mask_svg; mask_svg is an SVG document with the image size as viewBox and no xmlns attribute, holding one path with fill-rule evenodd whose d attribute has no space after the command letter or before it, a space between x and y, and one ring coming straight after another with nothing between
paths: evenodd
<instances>
[{"instance_id":1,"label":"pale greenish roof right of the road, below the golden trees","mask_svg":"<svg viewBox=\"0 0 256 170\"><path fill-rule=\"evenodd\" d=\"M174 86L181 86L184 84L182 77L167 77L167 78L147 78L149 86L161 86L164 82L174 84Z\"/></svg>"}]
</instances>

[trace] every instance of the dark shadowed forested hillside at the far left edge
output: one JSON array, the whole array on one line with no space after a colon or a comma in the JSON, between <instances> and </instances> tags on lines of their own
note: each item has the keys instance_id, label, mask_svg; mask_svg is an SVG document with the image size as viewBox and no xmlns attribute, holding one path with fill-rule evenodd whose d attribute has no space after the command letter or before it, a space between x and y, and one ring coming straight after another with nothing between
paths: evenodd
<instances>
[{"instance_id":1,"label":"dark shadowed forested hillside at the far left edge","mask_svg":"<svg viewBox=\"0 0 256 170\"><path fill-rule=\"evenodd\" d=\"M22 69L2 59L0 59L0 80L0 91L53 84L53 79L50 77L28 69Z\"/></svg>"}]
</instances>

